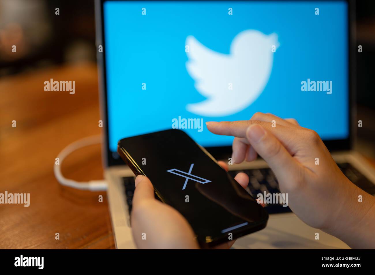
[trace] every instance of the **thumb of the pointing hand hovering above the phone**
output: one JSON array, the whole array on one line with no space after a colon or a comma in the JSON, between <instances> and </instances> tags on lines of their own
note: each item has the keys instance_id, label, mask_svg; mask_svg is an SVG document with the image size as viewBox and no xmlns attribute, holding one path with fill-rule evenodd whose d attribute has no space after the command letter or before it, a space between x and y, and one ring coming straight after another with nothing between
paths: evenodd
<instances>
[{"instance_id":1,"label":"thumb of the pointing hand hovering above the phone","mask_svg":"<svg viewBox=\"0 0 375 275\"><path fill-rule=\"evenodd\" d=\"M270 131L259 124L252 124L246 130L246 138L279 180L288 182L290 175L298 173L299 164Z\"/></svg>"}]
</instances>

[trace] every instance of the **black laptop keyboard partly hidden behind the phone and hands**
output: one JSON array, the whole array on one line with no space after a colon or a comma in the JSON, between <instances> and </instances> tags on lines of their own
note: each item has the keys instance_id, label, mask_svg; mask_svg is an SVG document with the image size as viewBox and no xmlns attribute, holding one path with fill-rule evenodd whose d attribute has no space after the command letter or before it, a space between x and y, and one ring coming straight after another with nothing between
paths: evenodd
<instances>
[{"instance_id":1,"label":"black laptop keyboard partly hidden behind the phone and hands","mask_svg":"<svg viewBox=\"0 0 375 275\"><path fill-rule=\"evenodd\" d=\"M372 184L362 173L354 168L350 163L338 163L338 166L342 170L345 176L350 179L355 185L369 194L375 194L375 185ZM250 180L246 190L257 199L257 194L266 191L266 193L279 194L279 184L270 168L261 169L246 169L246 170L231 170L229 174L236 176L237 173L246 173ZM129 209L129 214L132 211L133 193L135 190L134 184L135 178L125 177L123 178L124 190L126 194L126 203ZM266 204L265 209L269 214L291 212L290 208L282 206L282 204Z\"/></svg>"}]
</instances>

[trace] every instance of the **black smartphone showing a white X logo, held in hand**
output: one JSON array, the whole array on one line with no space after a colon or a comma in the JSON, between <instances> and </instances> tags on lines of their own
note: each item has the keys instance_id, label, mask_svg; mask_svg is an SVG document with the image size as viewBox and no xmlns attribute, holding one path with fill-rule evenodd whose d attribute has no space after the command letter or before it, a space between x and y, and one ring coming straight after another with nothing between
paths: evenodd
<instances>
[{"instance_id":1,"label":"black smartphone showing a white X logo, held in hand","mask_svg":"<svg viewBox=\"0 0 375 275\"><path fill-rule=\"evenodd\" d=\"M135 175L150 179L162 202L186 218L201 247L266 227L263 207L182 130L121 139L117 152Z\"/></svg>"}]
</instances>

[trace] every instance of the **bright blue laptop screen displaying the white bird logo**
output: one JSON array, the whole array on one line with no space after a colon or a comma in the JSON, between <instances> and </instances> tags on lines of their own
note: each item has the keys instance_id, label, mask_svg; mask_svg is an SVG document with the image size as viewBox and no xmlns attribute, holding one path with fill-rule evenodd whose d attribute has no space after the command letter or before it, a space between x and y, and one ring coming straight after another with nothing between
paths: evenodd
<instances>
[{"instance_id":1,"label":"bright blue laptop screen displaying the white bird logo","mask_svg":"<svg viewBox=\"0 0 375 275\"><path fill-rule=\"evenodd\" d=\"M107 1L108 141L178 128L231 145L206 121L296 118L349 136L346 1Z\"/></svg>"}]
</instances>

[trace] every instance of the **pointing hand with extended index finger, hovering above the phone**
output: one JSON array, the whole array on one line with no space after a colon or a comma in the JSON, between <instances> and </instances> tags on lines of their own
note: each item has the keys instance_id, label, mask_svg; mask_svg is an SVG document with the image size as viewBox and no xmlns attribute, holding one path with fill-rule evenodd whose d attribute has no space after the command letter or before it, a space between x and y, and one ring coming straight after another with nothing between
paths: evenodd
<instances>
[{"instance_id":1,"label":"pointing hand with extended index finger, hovering above the phone","mask_svg":"<svg viewBox=\"0 0 375 275\"><path fill-rule=\"evenodd\" d=\"M288 193L290 208L306 224L351 247L375 247L374 197L349 181L315 131L300 127L295 120L263 113L247 121L206 124L212 133L236 137L235 163L261 155L275 173L281 192ZM359 195L363 202L358 201Z\"/></svg>"}]
</instances>

